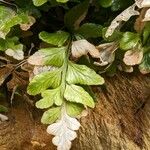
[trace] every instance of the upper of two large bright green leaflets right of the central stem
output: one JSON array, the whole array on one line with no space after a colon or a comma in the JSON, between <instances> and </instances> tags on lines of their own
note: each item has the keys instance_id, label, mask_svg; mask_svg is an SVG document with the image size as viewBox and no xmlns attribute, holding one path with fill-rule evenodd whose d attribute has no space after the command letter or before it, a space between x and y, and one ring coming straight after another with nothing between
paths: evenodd
<instances>
[{"instance_id":1,"label":"upper of two large bright green leaflets right of the central stem","mask_svg":"<svg viewBox=\"0 0 150 150\"><path fill-rule=\"evenodd\" d=\"M104 79L85 65L77 65L72 62L68 65L66 80L69 84L101 85Z\"/></svg>"}]
</instances>

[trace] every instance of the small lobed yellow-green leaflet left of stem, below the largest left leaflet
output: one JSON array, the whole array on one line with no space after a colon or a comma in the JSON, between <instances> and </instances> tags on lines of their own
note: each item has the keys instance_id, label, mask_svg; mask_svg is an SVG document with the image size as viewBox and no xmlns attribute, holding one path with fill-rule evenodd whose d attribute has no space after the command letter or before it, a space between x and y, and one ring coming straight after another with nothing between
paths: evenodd
<instances>
[{"instance_id":1,"label":"small lobed yellow-green leaflet left of stem, below the largest left leaflet","mask_svg":"<svg viewBox=\"0 0 150 150\"><path fill-rule=\"evenodd\" d=\"M43 99L36 102L36 107L40 109L48 108L54 103L60 106L63 102L60 87L42 92L42 97Z\"/></svg>"}]
</instances>

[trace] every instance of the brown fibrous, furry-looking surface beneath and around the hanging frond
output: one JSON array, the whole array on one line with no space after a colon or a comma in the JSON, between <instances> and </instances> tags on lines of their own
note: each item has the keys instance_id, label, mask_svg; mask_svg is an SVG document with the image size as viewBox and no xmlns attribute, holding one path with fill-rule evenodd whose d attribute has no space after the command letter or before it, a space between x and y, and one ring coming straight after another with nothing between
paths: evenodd
<instances>
[{"instance_id":1,"label":"brown fibrous, furry-looking surface beneath and around the hanging frond","mask_svg":"<svg viewBox=\"0 0 150 150\"><path fill-rule=\"evenodd\" d=\"M72 150L149 150L150 76L118 73L93 87L95 109L81 118ZM6 101L4 102L6 105ZM0 122L0 150L56 150L40 123L42 112L17 97Z\"/></svg>"}]
</instances>

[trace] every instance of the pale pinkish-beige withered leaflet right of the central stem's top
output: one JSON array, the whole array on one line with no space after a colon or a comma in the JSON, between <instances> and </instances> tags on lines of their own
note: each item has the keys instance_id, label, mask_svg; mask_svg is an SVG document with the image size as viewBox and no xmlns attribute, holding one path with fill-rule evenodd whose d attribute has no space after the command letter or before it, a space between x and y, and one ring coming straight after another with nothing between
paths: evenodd
<instances>
[{"instance_id":1,"label":"pale pinkish-beige withered leaflet right of the central stem's top","mask_svg":"<svg viewBox=\"0 0 150 150\"><path fill-rule=\"evenodd\" d=\"M99 58L98 49L85 39L72 42L71 53L75 58L87 55L88 53L94 58Z\"/></svg>"}]
</instances>

